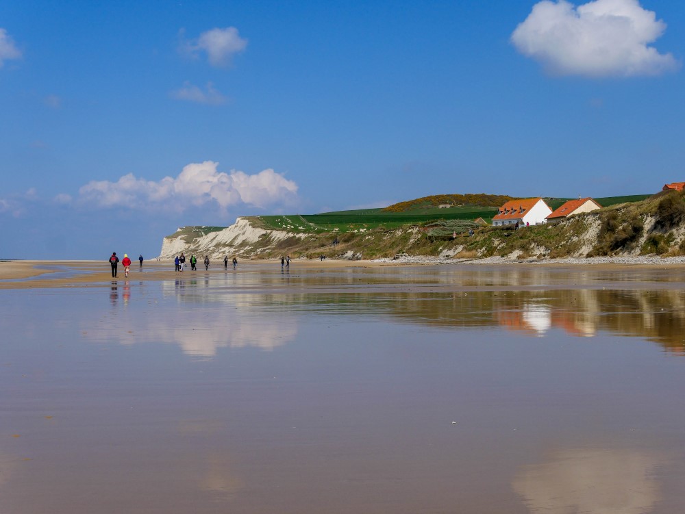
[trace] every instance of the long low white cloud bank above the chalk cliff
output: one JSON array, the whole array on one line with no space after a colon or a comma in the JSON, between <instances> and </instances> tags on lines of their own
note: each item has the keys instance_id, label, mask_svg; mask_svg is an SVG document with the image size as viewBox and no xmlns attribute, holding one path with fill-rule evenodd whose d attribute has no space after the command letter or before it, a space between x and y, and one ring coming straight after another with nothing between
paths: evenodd
<instances>
[{"instance_id":1,"label":"long low white cloud bank above the chalk cliff","mask_svg":"<svg viewBox=\"0 0 685 514\"><path fill-rule=\"evenodd\" d=\"M79 189L79 201L101 207L174 209L218 205L225 211L234 205L266 207L290 205L297 200L297 184L272 169L255 175L217 170L219 163L188 164L177 177L160 181L139 179L132 173L116 182L90 181Z\"/></svg>"}]
</instances>

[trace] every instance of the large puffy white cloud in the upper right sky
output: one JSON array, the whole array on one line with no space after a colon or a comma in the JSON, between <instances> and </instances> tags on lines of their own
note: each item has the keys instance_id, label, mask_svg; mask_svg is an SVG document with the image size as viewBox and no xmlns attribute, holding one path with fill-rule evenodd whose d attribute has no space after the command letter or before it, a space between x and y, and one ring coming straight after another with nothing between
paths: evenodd
<instances>
[{"instance_id":1,"label":"large puffy white cloud in the upper right sky","mask_svg":"<svg viewBox=\"0 0 685 514\"><path fill-rule=\"evenodd\" d=\"M660 75L680 63L649 44L666 24L638 0L595 0L575 6L543 0L511 36L516 49L554 75Z\"/></svg>"}]
</instances>

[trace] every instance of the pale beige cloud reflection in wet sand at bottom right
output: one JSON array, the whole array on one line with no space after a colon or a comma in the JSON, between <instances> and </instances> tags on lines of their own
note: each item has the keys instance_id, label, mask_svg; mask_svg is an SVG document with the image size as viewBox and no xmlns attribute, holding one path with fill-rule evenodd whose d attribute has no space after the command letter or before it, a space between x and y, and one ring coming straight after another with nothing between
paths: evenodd
<instances>
[{"instance_id":1,"label":"pale beige cloud reflection in wet sand at bottom right","mask_svg":"<svg viewBox=\"0 0 685 514\"><path fill-rule=\"evenodd\" d=\"M560 450L512 482L531 513L646 514L660 499L661 459L637 450Z\"/></svg>"}]
</instances>

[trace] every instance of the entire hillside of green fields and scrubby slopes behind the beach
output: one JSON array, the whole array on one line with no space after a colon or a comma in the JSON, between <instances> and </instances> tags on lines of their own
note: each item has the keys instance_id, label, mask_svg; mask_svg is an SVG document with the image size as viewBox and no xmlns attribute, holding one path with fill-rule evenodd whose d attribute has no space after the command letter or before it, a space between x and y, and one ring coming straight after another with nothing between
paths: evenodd
<instances>
[{"instance_id":1,"label":"entire hillside of green fields and scrubby slopes behind the beach","mask_svg":"<svg viewBox=\"0 0 685 514\"><path fill-rule=\"evenodd\" d=\"M256 240L208 240L221 227L185 227L167 237L188 248L229 251L255 259L291 257L376 259L395 255L514 259L592 255L681 255L685 253L685 201L677 192L595 198L602 209L559 224L524 227L490 225L499 205L437 203L449 195L395 204L393 209L360 209L322 214L251 216ZM452 195L456 196L456 195ZM481 200L488 195L460 195ZM501 196L489 196L501 200ZM510 198L510 197L505 197ZM552 209L567 198L543 198ZM492 201L492 200L490 200ZM486 200L487 202L487 200ZM482 203L482 202L481 202ZM479 218L482 218L479 220ZM216 246L221 244L222 246ZM206 246L202 246L206 245ZM207 246L209 245L209 246ZM177 248L177 246L174 246Z\"/></svg>"}]
</instances>

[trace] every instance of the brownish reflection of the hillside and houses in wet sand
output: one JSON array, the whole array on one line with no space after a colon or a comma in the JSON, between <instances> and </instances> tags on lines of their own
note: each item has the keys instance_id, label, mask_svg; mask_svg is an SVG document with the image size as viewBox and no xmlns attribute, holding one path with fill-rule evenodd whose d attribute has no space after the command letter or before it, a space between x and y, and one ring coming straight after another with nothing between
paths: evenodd
<instances>
[{"instance_id":1,"label":"brownish reflection of the hillside and houses in wet sand","mask_svg":"<svg viewBox=\"0 0 685 514\"><path fill-rule=\"evenodd\" d=\"M477 328L503 326L544 336L561 329L577 337L599 331L640 336L685 355L685 292L553 289L393 294L264 295L267 307L321 311L335 316L392 316L404 322Z\"/></svg>"}]
</instances>

